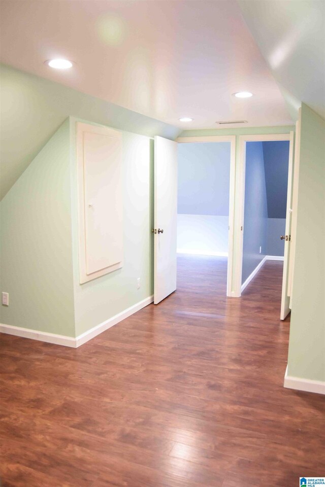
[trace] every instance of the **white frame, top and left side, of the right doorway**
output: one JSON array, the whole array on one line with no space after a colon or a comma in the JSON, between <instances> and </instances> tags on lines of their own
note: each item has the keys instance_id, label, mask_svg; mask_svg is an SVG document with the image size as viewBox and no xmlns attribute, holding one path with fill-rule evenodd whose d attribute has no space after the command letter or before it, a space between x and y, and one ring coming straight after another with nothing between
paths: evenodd
<instances>
[{"instance_id":1,"label":"white frame, top and left side, of the right doorway","mask_svg":"<svg viewBox=\"0 0 325 487\"><path fill-rule=\"evenodd\" d=\"M245 169L246 169L246 142L277 142L288 141L290 144L289 150L293 150L292 140L290 140L290 133L272 133L272 134L254 134L254 135L240 135L239 136L239 185L237 202L239 203L239 222L240 222L240 238L234 242L234 253L238 256L236 261L238 266L234 272L234 288L235 296L241 296L242 287L242 268L243 268L243 242L244 242L244 213L245 213Z\"/></svg>"}]
</instances>

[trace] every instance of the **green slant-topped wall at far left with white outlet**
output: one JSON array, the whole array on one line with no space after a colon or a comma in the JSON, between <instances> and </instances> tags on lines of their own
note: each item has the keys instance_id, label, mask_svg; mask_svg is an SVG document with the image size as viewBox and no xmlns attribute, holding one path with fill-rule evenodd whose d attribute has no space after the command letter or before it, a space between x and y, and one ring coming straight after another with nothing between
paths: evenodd
<instances>
[{"instance_id":1,"label":"green slant-topped wall at far left with white outlet","mask_svg":"<svg viewBox=\"0 0 325 487\"><path fill-rule=\"evenodd\" d=\"M67 120L2 200L0 322L74 336L69 136Z\"/></svg>"}]
</instances>

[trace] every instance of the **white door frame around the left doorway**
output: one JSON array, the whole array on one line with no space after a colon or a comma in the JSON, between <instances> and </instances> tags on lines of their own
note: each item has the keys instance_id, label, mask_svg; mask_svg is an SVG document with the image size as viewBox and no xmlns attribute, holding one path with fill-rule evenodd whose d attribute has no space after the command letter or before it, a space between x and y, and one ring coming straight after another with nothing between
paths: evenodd
<instances>
[{"instance_id":1,"label":"white door frame around the left doorway","mask_svg":"<svg viewBox=\"0 0 325 487\"><path fill-rule=\"evenodd\" d=\"M230 142L230 186L229 186L229 233L228 233L228 267L227 296L233 296L233 264L234 264L234 224L235 224L235 169L236 169L236 135L211 135L198 137L178 137L180 144L188 142Z\"/></svg>"}]
</instances>

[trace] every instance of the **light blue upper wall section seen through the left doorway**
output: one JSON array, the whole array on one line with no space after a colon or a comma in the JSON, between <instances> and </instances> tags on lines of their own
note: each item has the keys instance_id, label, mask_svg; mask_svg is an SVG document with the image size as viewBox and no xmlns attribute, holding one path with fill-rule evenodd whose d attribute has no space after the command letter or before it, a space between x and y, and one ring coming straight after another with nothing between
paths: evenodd
<instances>
[{"instance_id":1,"label":"light blue upper wall section seen through the left doorway","mask_svg":"<svg viewBox=\"0 0 325 487\"><path fill-rule=\"evenodd\" d=\"M178 144L178 213L229 215L230 143Z\"/></svg>"}]
</instances>

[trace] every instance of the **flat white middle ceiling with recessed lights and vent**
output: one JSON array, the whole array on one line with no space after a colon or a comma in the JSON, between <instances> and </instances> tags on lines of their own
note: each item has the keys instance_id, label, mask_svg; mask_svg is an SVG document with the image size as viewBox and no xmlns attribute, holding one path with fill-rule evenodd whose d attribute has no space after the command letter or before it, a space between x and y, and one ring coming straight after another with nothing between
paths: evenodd
<instances>
[{"instance_id":1,"label":"flat white middle ceiling with recessed lights and vent","mask_svg":"<svg viewBox=\"0 0 325 487\"><path fill-rule=\"evenodd\" d=\"M1 8L2 61L23 71L186 129L293 122L233 0L4 0ZM56 57L76 64L44 64ZM241 90L254 96L232 96Z\"/></svg>"}]
</instances>

